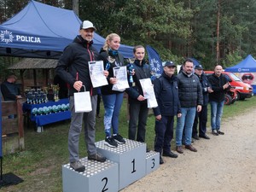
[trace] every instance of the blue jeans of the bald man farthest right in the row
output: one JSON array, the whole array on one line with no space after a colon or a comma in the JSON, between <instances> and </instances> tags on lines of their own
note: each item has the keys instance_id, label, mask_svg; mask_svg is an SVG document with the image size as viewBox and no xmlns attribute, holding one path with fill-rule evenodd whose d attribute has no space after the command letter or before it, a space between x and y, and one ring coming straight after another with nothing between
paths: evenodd
<instances>
[{"instance_id":1,"label":"blue jeans of the bald man farthest right in the row","mask_svg":"<svg viewBox=\"0 0 256 192\"><path fill-rule=\"evenodd\" d=\"M211 104L211 126L212 130L219 130L220 129L220 122L224 108L224 101L223 102L210 102Z\"/></svg>"}]
</instances>

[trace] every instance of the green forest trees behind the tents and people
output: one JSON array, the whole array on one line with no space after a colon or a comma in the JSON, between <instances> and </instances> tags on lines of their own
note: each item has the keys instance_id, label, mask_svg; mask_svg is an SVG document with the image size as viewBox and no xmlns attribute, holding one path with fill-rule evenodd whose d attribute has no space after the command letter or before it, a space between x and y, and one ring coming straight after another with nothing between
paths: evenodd
<instances>
[{"instance_id":1,"label":"green forest trees behind the tents and people","mask_svg":"<svg viewBox=\"0 0 256 192\"><path fill-rule=\"evenodd\" d=\"M193 57L206 69L234 66L256 56L256 0L37 0L73 9L90 20L103 38L118 33L121 43L154 47L162 61L181 64ZM0 23L29 0L0 0ZM67 26L68 27L68 26ZM20 58L0 57L3 69Z\"/></svg>"}]
</instances>

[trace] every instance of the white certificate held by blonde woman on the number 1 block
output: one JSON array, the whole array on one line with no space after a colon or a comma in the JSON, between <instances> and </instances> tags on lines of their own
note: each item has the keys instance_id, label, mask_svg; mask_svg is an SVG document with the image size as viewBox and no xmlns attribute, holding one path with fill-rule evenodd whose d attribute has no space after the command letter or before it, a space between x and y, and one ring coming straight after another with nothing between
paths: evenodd
<instances>
[{"instance_id":1,"label":"white certificate held by blonde woman on the number 1 block","mask_svg":"<svg viewBox=\"0 0 256 192\"><path fill-rule=\"evenodd\" d=\"M124 91L126 88L129 88L125 66L113 67L113 76L117 79L117 83L113 84L112 90Z\"/></svg>"}]
</instances>

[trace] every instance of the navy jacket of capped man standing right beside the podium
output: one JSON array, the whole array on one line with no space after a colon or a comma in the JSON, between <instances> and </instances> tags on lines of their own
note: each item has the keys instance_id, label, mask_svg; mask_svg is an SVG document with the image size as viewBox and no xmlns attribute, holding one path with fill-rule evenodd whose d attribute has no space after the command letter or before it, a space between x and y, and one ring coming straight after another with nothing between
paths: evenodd
<instances>
[{"instance_id":1,"label":"navy jacket of capped man standing right beside the podium","mask_svg":"<svg viewBox=\"0 0 256 192\"><path fill-rule=\"evenodd\" d=\"M177 77L171 78L162 73L160 78L154 80L154 94L158 103L157 108L153 108L154 116L166 115L174 116L181 113L178 99Z\"/></svg>"}]
</instances>

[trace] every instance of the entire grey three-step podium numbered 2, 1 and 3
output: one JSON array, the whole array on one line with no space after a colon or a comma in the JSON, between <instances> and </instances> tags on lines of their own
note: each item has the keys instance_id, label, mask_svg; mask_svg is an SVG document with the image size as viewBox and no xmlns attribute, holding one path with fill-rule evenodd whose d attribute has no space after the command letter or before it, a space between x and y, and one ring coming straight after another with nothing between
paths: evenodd
<instances>
[{"instance_id":1,"label":"entire grey three-step podium numbered 2, 1 and 3","mask_svg":"<svg viewBox=\"0 0 256 192\"><path fill-rule=\"evenodd\" d=\"M69 164L62 166L64 192L119 191L160 166L160 154L146 153L146 144L125 139L125 144L110 148L105 141L96 143L97 151L106 162L81 159L84 172L75 172Z\"/></svg>"}]
</instances>

